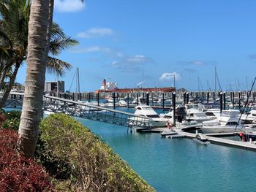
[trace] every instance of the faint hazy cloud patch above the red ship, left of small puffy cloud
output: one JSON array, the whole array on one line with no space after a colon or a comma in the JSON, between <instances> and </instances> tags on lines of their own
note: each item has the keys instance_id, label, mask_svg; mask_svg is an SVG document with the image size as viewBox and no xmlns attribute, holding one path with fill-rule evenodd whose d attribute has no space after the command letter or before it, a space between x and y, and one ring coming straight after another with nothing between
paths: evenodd
<instances>
[{"instance_id":1,"label":"faint hazy cloud patch above the red ship, left of small puffy cloud","mask_svg":"<svg viewBox=\"0 0 256 192\"><path fill-rule=\"evenodd\" d=\"M119 72L140 72L141 66L152 62L152 58L145 55L135 55L124 57L120 61L113 61L112 66L118 69Z\"/></svg>"}]
</instances>

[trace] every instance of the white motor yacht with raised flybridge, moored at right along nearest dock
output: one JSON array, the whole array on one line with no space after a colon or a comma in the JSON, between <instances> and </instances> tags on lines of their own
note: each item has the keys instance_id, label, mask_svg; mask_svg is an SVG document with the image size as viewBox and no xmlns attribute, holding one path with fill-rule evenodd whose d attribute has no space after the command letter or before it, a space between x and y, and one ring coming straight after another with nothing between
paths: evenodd
<instances>
[{"instance_id":1,"label":"white motor yacht with raised flybridge, moored at right along nearest dock","mask_svg":"<svg viewBox=\"0 0 256 192\"><path fill-rule=\"evenodd\" d=\"M253 130L253 127L246 127L239 123L239 110L223 110L215 120L203 122L202 131L204 134L231 133L243 130Z\"/></svg>"}]
</instances>

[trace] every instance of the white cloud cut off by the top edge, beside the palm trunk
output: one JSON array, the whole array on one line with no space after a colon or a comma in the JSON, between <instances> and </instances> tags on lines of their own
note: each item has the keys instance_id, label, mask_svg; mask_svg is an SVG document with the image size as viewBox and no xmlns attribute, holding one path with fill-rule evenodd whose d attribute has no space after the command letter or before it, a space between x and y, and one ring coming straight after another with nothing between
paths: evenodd
<instances>
[{"instance_id":1,"label":"white cloud cut off by the top edge, beside the palm trunk","mask_svg":"<svg viewBox=\"0 0 256 192\"><path fill-rule=\"evenodd\" d=\"M85 4L80 0L55 0L54 7L59 12L78 12Z\"/></svg>"}]
</instances>

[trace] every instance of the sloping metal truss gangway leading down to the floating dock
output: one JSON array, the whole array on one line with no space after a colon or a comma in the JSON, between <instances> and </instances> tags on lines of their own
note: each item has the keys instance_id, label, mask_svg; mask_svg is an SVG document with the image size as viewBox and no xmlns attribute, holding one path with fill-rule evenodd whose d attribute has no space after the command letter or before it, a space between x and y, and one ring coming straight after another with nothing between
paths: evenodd
<instances>
[{"instance_id":1,"label":"sloping metal truss gangway leading down to the floating dock","mask_svg":"<svg viewBox=\"0 0 256 192\"><path fill-rule=\"evenodd\" d=\"M54 96L44 96L43 110L48 112L62 112L79 118L112 123L118 126L127 126L128 128L150 128L150 120L152 120L151 118L134 115L129 112L121 112L106 107L99 107L94 104L61 99Z\"/></svg>"}]
</instances>

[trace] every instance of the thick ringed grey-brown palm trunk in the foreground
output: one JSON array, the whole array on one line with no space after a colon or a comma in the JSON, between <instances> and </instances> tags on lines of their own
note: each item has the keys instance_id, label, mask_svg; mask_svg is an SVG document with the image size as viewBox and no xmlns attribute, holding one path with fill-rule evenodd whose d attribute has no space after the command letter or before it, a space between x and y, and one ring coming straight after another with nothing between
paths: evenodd
<instances>
[{"instance_id":1,"label":"thick ringed grey-brown palm trunk in the foreground","mask_svg":"<svg viewBox=\"0 0 256 192\"><path fill-rule=\"evenodd\" d=\"M33 0L29 17L28 58L25 93L18 131L19 155L34 157L38 126L42 117L42 96L48 55L49 0Z\"/></svg>"}]
</instances>

